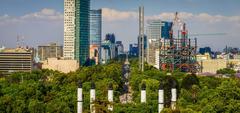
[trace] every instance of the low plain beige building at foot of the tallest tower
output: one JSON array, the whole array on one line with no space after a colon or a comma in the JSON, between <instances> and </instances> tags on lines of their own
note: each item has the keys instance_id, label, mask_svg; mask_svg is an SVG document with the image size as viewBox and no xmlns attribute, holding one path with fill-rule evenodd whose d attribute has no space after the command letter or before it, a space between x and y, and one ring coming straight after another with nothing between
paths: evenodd
<instances>
[{"instance_id":1,"label":"low plain beige building at foot of the tallest tower","mask_svg":"<svg viewBox=\"0 0 240 113\"><path fill-rule=\"evenodd\" d=\"M59 58L48 58L43 61L43 69L57 70L63 73L74 72L79 68L77 60L63 60Z\"/></svg>"}]
</instances>

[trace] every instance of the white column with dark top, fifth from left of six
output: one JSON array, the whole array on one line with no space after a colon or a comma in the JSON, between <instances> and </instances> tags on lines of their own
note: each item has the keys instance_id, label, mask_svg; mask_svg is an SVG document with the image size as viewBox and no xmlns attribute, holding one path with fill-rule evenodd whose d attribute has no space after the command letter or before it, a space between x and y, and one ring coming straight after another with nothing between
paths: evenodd
<instances>
[{"instance_id":1,"label":"white column with dark top, fifth from left of six","mask_svg":"<svg viewBox=\"0 0 240 113\"><path fill-rule=\"evenodd\" d=\"M159 89L158 89L158 113L161 113L163 108L164 108L164 90L163 90L163 84L160 83Z\"/></svg>"}]
</instances>

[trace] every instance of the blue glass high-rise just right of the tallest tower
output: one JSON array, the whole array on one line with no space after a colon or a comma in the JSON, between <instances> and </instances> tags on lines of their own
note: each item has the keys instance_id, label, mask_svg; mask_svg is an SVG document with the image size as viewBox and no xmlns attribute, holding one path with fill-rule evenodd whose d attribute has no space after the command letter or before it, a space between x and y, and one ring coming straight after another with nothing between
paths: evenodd
<instances>
[{"instance_id":1,"label":"blue glass high-rise just right of the tallest tower","mask_svg":"<svg viewBox=\"0 0 240 113\"><path fill-rule=\"evenodd\" d=\"M90 10L90 58L99 63L101 57L102 10Z\"/></svg>"}]
</instances>

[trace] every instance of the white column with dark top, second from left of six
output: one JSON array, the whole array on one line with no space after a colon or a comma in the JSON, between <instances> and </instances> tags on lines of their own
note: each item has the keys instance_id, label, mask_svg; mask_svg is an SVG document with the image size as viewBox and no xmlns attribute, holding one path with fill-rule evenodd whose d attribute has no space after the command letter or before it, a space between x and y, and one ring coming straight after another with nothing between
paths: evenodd
<instances>
[{"instance_id":1,"label":"white column with dark top, second from left of six","mask_svg":"<svg viewBox=\"0 0 240 113\"><path fill-rule=\"evenodd\" d=\"M92 82L91 84L91 89L90 89L90 112L95 113L95 108L94 108L94 101L96 99L95 95L95 84Z\"/></svg>"}]
</instances>

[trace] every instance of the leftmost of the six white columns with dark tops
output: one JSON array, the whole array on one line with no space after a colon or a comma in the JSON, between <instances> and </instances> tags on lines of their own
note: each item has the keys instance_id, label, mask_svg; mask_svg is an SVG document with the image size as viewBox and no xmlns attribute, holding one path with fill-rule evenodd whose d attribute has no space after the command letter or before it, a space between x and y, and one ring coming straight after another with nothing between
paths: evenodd
<instances>
[{"instance_id":1,"label":"leftmost of the six white columns with dark tops","mask_svg":"<svg viewBox=\"0 0 240 113\"><path fill-rule=\"evenodd\" d=\"M77 90L77 113L83 112L82 83L79 81Z\"/></svg>"}]
</instances>

